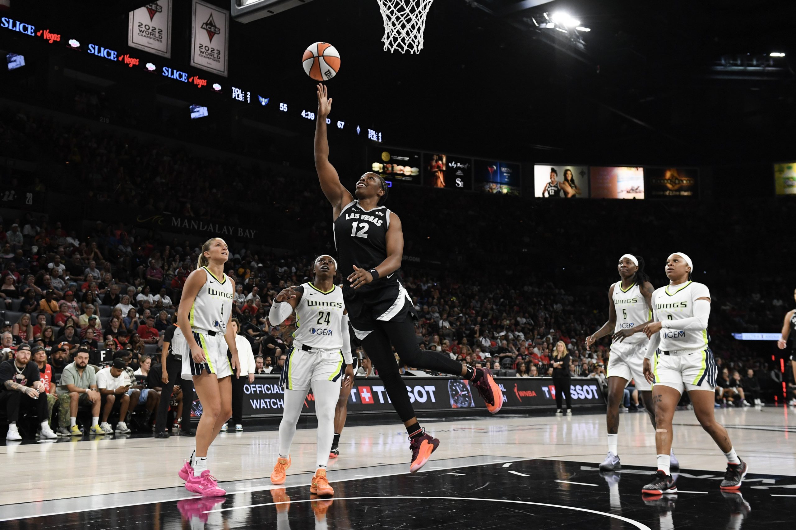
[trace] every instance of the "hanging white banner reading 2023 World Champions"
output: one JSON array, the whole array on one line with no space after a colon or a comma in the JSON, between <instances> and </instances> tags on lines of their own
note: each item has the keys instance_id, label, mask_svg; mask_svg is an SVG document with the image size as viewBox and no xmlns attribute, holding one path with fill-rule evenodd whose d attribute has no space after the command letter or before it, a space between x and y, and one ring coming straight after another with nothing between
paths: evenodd
<instances>
[{"instance_id":1,"label":"hanging white banner reading 2023 World Champions","mask_svg":"<svg viewBox=\"0 0 796 530\"><path fill-rule=\"evenodd\" d=\"M191 66L227 76L229 11L193 0Z\"/></svg>"}]
</instances>

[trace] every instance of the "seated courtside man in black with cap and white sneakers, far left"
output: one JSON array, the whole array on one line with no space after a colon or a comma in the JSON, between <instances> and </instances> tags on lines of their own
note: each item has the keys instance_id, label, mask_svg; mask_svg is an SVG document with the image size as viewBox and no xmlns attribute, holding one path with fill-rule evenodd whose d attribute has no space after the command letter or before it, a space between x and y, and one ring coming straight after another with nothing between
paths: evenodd
<instances>
[{"instance_id":1,"label":"seated courtside man in black with cap and white sneakers, far left","mask_svg":"<svg viewBox=\"0 0 796 530\"><path fill-rule=\"evenodd\" d=\"M6 439L22 439L17 428L21 408L35 409L41 425L41 439L55 439L57 435L47 420L47 397L35 362L30 362L30 350L17 351L13 359L0 362L0 406L5 405L9 422Z\"/></svg>"}]
</instances>

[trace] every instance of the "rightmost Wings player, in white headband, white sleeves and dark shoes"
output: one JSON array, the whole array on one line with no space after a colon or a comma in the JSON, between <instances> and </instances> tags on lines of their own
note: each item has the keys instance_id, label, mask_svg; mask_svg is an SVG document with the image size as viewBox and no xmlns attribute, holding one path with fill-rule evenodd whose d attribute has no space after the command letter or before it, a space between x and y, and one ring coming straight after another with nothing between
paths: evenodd
<instances>
[{"instance_id":1,"label":"rightmost Wings player, in white headband, white sleeves and dark shoes","mask_svg":"<svg viewBox=\"0 0 796 530\"><path fill-rule=\"evenodd\" d=\"M727 429L713 413L716 393L716 361L710 349L708 319L711 296L708 286L691 280L693 261L677 252L666 258L669 284L652 294L652 322L644 328L650 338L644 356L644 376L653 384L655 401L655 448L657 473L642 493L676 493L670 470L672 420L683 391L689 393L694 415L727 458L720 483L723 491L737 491L748 466L732 447ZM653 366L654 361L654 366Z\"/></svg>"}]
</instances>

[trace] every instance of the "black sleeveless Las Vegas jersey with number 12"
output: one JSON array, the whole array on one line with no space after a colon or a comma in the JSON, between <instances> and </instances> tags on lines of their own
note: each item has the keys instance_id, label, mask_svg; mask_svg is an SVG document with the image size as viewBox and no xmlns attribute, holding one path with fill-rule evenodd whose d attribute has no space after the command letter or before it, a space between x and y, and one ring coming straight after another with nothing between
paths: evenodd
<instances>
[{"instance_id":1,"label":"black sleeveless Las Vegas jersey with number 12","mask_svg":"<svg viewBox=\"0 0 796 530\"><path fill-rule=\"evenodd\" d=\"M370 270L387 258L389 216L387 207L363 210L356 200L340 212L333 227L334 246L338 250L338 265L343 278L353 273L353 265ZM369 292L397 282L398 271L395 271L386 278L363 285L357 292Z\"/></svg>"}]
</instances>

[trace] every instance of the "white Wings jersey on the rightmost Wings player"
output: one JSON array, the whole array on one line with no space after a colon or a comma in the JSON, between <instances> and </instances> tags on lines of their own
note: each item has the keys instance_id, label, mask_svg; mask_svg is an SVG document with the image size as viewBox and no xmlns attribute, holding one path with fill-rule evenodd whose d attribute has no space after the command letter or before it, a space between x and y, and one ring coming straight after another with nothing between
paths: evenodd
<instances>
[{"instance_id":1,"label":"white Wings jersey on the rightmost Wings player","mask_svg":"<svg viewBox=\"0 0 796 530\"><path fill-rule=\"evenodd\" d=\"M655 318L661 322L666 320L687 319L694 315L694 300L703 296L710 298L710 291L705 284L687 281L680 285L666 285L655 289L652 304ZM710 337L708 330L673 330L669 327L661 329L661 350L700 350L708 346Z\"/></svg>"}]
</instances>

